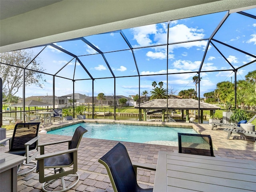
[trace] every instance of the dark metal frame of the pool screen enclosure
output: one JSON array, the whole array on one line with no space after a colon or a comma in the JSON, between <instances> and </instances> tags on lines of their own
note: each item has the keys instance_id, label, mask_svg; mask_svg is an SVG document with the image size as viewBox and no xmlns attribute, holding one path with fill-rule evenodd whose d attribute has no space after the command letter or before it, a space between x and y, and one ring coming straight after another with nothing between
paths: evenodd
<instances>
[{"instance_id":1,"label":"dark metal frame of the pool screen enclosure","mask_svg":"<svg viewBox=\"0 0 256 192\"><path fill-rule=\"evenodd\" d=\"M252 14L248 14L248 13L246 13L246 12L244 12L244 11L239 11L239 12L237 12L238 14L241 14L241 15L244 15L244 16L247 16L247 17L250 17L250 18L253 18L253 19L256 19L256 16L254 16L254 15L252 15ZM230 45L228 45L228 44L226 44L226 43L224 43L224 42L221 42L221 41L219 41L219 40L216 40L216 39L214 39L214 35L218 32L218 30L221 28L221 26L222 26L222 24L226 21L226 19L228 18L228 16L230 16L230 13L229 13L229 11L227 11L227 13L225 14L225 16L224 16L224 18L222 18L222 20L221 20L221 22L218 24L218 26L215 28L215 30L214 30L214 32L210 35L210 37L209 38L203 38L203 39L197 39L197 40L190 40L190 41L184 41L184 42L174 42L174 43L169 43L169 28L170 28L170 22L172 22L172 21L167 21L168 22L168 32L167 32L167 43L166 44L158 44L158 45L150 45L150 46L140 46L140 47L132 47L132 45L130 44L130 42L129 42L129 40L126 38L126 36L125 36L125 34L124 34L124 32L123 32L123 30L117 30L117 31L114 31L114 32L107 32L107 33L105 33L105 34L110 34L110 33L120 33L120 35L122 36L122 38L124 39L124 41L126 42L126 44L128 45L128 49L122 49L122 50L117 50L117 51L109 51L109 52L102 52L100 49L98 49L96 46L94 46L91 42L89 42L88 40L86 40L86 38L84 38L84 37L80 37L80 38L75 38L75 39L72 39L72 40L66 40L66 41L73 41L73 40L82 40L85 44L87 44L88 46L90 46L92 49L94 49L96 52L98 52L97 54L100 54L101 56L102 56L102 58L104 59L104 61L106 62L106 65L108 66L108 70L110 71L110 73L112 74L112 77L105 77L105 78L94 78L91 74L90 74L90 72L87 70L87 68L84 66L84 64L82 63L82 61L80 60L80 58L79 58L79 56L78 55L75 55L74 53L71 53L71 52L68 52L67 50L65 50L65 49L63 49L63 48L61 48L60 46L57 46L55 43L51 43L51 44L45 44L45 45L41 45L41 46L44 46L43 48L42 48L42 50L40 51L40 52L38 52L38 54L36 54L35 56L34 56L34 58L26 65L26 67L25 68L23 68L23 70L24 70L24 73L23 73L23 76L25 76L25 70L30 70L30 69L28 69L27 67L28 67L28 65L47 47L47 46L52 46L53 48L56 48L57 50L59 50L59 51L61 51L61 52L64 52L65 54L68 54L68 55L70 55L70 56L72 56L73 58L72 58L72 60L76 60L76 61L78 61L79 63L80 63L80 65L82 66L82 68L84 69L84 71L88 74L88 76L90 77L90 78L86 78L86 79L70 79L70 78L66 78L66 77L63 77L63 76L58 76L58 72L62 69L62 68L64 68L64 66L66 66L68 63L66 63L66 65L64 65L62 68L60 68L60 70L58 71L58 72L56 72L55 74L48 74L48 73L45 73L45 72L39 72L39 71L36 71L36 72L39 72L39 73L42 73L42 74L47 74L47 75L50 75L50 76L52 76L52 78L53 78L53 104L55 103L55 98L54 98L54 96L55 96L55 78L56 77L60 77L60 78L64 78L64 79L68 79L68 80L71 80L72 82L73 82L73 98L74 98L74 88L75 88L75 86L74 86L74 83L76 82L76 81L79 81L79 80L92 80L92 102L94 103L94 80L96 80L96 79L106 79L106 78L113 78L114 79L114 98L116 97L116 78L124 78L124 77L138 77L138 84L139 84L139 86L138 86L138 90L139 90L139 105L140 105L140 92L141 92L141 89L140 89L140 78L142 77L142 76L158 76L158 75L166 75L166 80L167 80L167 82L168 82L168 75L172 75L172 74L190 74L190 73L197 73L198 74L198 78L200 79L200 73L201 72L221 72L221 71L232 71L232 72L234 72L234 78L235 78L235 80L234 80L234 84L235 84L235 89L234 89L234 101L235 101L235 106L236 106L236 82L237 82L237 80L236 80L236 74L237 74L237 72L238 72L238 70L240 69L240 68L243 68L243 67L245 67L245 66L248 66L248 65L250 65L250 64L252 64L252 63L254 63L254 62L256 62L256 56L255 55L253 55L253 54L250 54L250 53L248 53L248 52L245 52L245 51L243 51L243 50L240 50L240 49L238 49L238 48L236 48L236 47L233 47L233 46L230 46ZM189 43L189 42L194 42L194 41L204 41L204 40L207 40L208 42L207 42L207 45L206 45L206 50L205 50L205 52L204 52L204 55L203 55L203 58L202 58L202 61L201 61L201 64L200 64L200 68L199 68L199 70L198 71L193 71L193 72L184 72L184 73L169 73L168 72L168 47L169 47L169 45L173 45L173 44L181 44L181 43ZM66 42L66 41L62 41L62 42ZM244 54L246 54L246 55L249 55L249 56L251 56L251 57L253 57L253 58L255 58L255 60L253 60L253 61L251 61L251 62L248 62L248 63L246 63L246 64L244 64L243 66L240 66L240 67L238 67L238 68L235 68L235 66L233 66L229 61L228 61L228 59L218 50L218 48L216 48L216 46L215 46L215 43L219 43L219 44L222 44L222 45L224 45L224 46L227 46L227 47L229 47L229 48L231 48L231 49L234 49L234 50L236 50L236 51L238 51L238 52L242 52L242 53L244 53ZM56 42L56 43L59 43L59 42ZM36 47L41 47L41 46L36 46ZM152 48L152 47L156 47L156 46L166 46L166 49L167 49L167 52L166 52L166 54L167 54L167 59L166 59L166 74L145 74L145 75L143 75L143 74L140 74L140 71L139 71L139 69L138 69L138 64L137 64L137 61L136 61L136 56L135 56L135 54L134 54L134 50L136 50L136 49L141 49L141 48ZM202 71L202 66L203 66L203 63L204 63L204 60L205 60L205 57L206 57L206 54L207 54L207 50L208 50L208 47L209 46L214 46L217 50L218 50L218 52L222 55L222 57L226 60L226 62L228 62L228 64L231 66L231 68L232 69L227 69L227 70L212 70L212 71ZM30 47L30 48L35 48L35 47ZM136 70L137 70L137 74L136 75L131 75L131 76L115 76L115 74L114 74L114 72L112 71L112 69L111 69L111 67L110 67L110 65L108 64L108 60L106 59L106 57L104 56L104 54L106 54L106 53L111 53L111 52L118 52L118 51L125 51L125 50L129 50L130 52L132 52L132 56L133 56L133 59L134 59L134 64L135 64L135 66L136 66ZM90 54L88 54L87 56L89 56ZM91 54L91 55L93 55L93 54ZM5 63L2 63L1 62L1 64L5 64ZM9 64L7 64L7 65L9 65ZM17 67L17 66L15 66L15 67ZM25 79L25 77L23 77L23 79ZM1 83L2 84L2 83ZM167 87L167 90L168 90L168 83L167 83L167 85L166 85L166 87ZM2 90L1 90L1 92L2 92ZM1 94L1 97L2 97L2 94ZM23 98L25 98L25 82L23 81ZM167 98L167 100L168 100L168 98ZM116 101L114 101L114 103L116 103ZM167 102L168 103L168 102ZM25 99L23 99L23 105L25 106ZM73 106L74 106L74 100L73 100ZM24 108L24 107L23 107ZM53 107L54 108L54 107ZM168 108L168 104L167 104L167 106L166 106L166 109ZM139 108L140 109L140 108ZM1 107L0 107L0 112L1 112L1 115L2 115L2 102L1 102ZM198 112L199 112L199 119L200 119L200 81L198 82ZM94 114L94 106L93 106L93 108L92 108L92 114ZM94 118L94 115L92 115L92 118ZM114 120L116 120L116 105L114 105ZM2 121L2 117L1 117L1 121ZM202 122L201 122L202 123Z\"/></svg>"}]
</instances>

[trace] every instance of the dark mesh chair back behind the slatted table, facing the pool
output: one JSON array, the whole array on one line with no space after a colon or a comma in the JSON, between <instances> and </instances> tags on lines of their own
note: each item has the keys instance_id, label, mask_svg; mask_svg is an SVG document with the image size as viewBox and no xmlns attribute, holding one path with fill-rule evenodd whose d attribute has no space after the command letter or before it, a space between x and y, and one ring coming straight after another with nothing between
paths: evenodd
<instances>
[{"instance_id":1,"label":"dark mesh chair back behind the slatted table, facing the pool","mask_svg":"<svg viewBox=\"0 0 256 192\"><path fill-rule=\"evenodd\" d=\"M178 133L179 153L214 157L210 135Z\"/></svg>"}]
</instances>

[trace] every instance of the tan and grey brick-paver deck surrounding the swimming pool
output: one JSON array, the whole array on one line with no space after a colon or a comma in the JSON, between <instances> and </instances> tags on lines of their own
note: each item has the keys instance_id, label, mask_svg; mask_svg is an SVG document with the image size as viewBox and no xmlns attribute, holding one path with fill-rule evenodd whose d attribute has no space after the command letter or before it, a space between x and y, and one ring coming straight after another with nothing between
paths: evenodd
<instances>
[{"instance_id":1,"label":"tan and grey brick-paver deck surrounding the swimming pool","mask_svg":"<svg viewBox=\"0 0 256 192\"><path fill-rule=\"evenodd\" d=\"M196 123L180 123L180 122L137 122L124 120L72 120L59 124L55 122L48 128L57 126L66 126L67 124L75 124L78 122L95 122L95 123L122 123L122 124L138 124L138 125L155 125L155 126L175 126L193 128L200 134L210 134L214 145L214 154L219 157L245 159L256 161L256 143L251 140L245 140L240 135L232 135L227 140L227 132L221 130L211 130L211 125ZM12 131L7 131L7 137L12 135ZM52 140L65 140L70 136L58 136L51 134L40 134L40 142L51 142ZM112 186L108 178L106 169L98 162L98 159L108 152L118 141L82 138L78 150L78 173L80 174L79 183L69 190L69 192L112 192ZM141 144L132 142L122 142L129 153L132 162L141 162L149 164L157 164L158 152L178 152L178 147L164 146L156 144ZM46 148L45 152L56 152L66 149L67 146L56 145L55 148ZM8 146L0 147L1 151L7 151ZM27 169L22 166L22 169ZM154 171L139 170L138 181L142 187L153 187ZM73 180L68 178L68 183ZM41 192L42 184L39 183L39 175L31 172L24 176L18 176L18 192ZM52 190L56 190L59 183L50 185Z\"/></svg>"}]
</instances>

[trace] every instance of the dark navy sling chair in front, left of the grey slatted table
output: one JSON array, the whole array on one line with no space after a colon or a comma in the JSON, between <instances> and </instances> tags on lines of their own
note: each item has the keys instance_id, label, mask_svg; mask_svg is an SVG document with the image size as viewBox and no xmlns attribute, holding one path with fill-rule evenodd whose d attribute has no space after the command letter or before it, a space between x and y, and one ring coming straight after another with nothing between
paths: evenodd
<instances>
[{"instance_id":1,"label":"dark navy sling chair in front, left of the grey slatted table","mask_svg":"<svg viewBox=\"0 0 256 192\"><path fill-rule=\"evenodd\" d=\"M153 188L141 188L136 179L137 168L156 170L154 165L134 164L130 160L125 146L118 143L98 160L103 164L114 189L114 192L152 192Z\"/></svg>"}]
</instances>

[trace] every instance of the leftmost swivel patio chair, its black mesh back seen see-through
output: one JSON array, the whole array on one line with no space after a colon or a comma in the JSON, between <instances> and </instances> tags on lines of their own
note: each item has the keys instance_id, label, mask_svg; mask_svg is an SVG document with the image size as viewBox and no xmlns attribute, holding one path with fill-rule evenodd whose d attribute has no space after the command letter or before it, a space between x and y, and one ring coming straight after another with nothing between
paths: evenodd
<instances>
[{"instance_id":1,"label":"leftmost swivel patio chair, its black mesh back seen see-through","mask_svg":"<svg viewBox=\"0 0 256 192\"><path fill-rule=\"evenodd\" d=\"M26 160L22 163L26 166L32 166L27 171L20 170L18 166L18 176L31 172L36 168L36 162L31 162L38 154L38 130L40 122L33 123L17 123L14 127L11 138L0 141L0 144L9 140L9 151L6 153L25 156ZM19 173L20 171L20 173Z\"/></svg>"}]
</instances>

